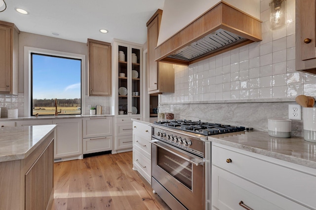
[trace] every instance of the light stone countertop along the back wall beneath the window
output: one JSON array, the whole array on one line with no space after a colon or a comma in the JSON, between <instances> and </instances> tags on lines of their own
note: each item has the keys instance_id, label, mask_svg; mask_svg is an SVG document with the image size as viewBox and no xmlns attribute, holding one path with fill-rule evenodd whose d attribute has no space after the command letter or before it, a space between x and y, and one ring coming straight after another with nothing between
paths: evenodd
<instances>
[{"instance_id":1,"label":"light stone countertop along the back wall beneath the window","mask_svg":"<svg viewBox=\"0 0 316 210\"><path fill-rule=\"evenodd\" d=\"M112 114L93 114L93 115L89 115L89 114L80 114L80 115L58 115L58 116L54 116L54 115L46 115L46 116L39 116L39 117L35 117L35 116L31 116L31 117L15 117L15 118L7 118L7 117L3 117L0 118L0 121L15 121L15 120L45 120L45 119L71 119L71 118L86 118L86 117L113 117L114 115Z\"/></svg>"}]
</instances>

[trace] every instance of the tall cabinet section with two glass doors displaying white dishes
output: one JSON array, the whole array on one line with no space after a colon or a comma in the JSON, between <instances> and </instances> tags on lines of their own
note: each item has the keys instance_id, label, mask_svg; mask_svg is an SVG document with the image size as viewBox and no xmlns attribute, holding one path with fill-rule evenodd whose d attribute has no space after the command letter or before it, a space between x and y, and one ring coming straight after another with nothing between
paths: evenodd
<instances>
[{"instance_id":1,"label":"tall cabinet section with two glass doors displaying white dishes","mask_svg":"<svg viewBox=\"0 0 316 210\"><path fill-rule=\"evenodd\" d=\"M117 50L115 89L116 115L134 116L142 111L142 46L114 42Z\"/></svg>"}]
</instances>

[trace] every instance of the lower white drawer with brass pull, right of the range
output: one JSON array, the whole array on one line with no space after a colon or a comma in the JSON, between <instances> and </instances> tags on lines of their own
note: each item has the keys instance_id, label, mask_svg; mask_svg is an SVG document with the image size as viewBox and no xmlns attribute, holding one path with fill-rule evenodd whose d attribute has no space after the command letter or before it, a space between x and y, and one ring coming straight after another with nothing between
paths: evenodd
<instances>
[{"instance_id":1,"label":"lower white drawer with brass pull, right of the range","mask_svg":"<svg viewBox=\"0 0 316 210\"><path fill-rule=\"evenodd\" d=\"M307 210L276 193L212 166L212 209L242 210L239 202L252 210Z\"/></svg>"}]
</instances>

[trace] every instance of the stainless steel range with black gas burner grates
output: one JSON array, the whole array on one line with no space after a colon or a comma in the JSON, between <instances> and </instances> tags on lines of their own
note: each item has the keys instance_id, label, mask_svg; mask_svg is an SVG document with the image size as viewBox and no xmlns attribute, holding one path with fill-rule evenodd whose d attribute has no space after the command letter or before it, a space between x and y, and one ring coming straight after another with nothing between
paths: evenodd
<instances>
[{"instance_id":1,"label":"stainless steel range with black gas burner grates","mask_svg":"<svg viewBox=\"0 0 316 210\"><path fill-rule=\"evenodd\" d=\"M173 210L204 210L205 170L210 170L210 161L205 164L205 148L210 153L207 136L245 130L190 120L155 122L151 140L154 191Z\"/></svg>"}]
</instances>

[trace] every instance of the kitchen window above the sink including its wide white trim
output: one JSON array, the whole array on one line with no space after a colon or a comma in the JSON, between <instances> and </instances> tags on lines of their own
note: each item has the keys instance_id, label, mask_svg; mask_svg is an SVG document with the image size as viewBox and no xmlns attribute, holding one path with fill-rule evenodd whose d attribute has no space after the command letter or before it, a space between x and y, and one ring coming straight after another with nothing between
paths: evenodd
<instances>
[{"instance_id":1,"label":"kitchen window above the sink including its wide white trim","mask_svg":"<svg viewBox=\"0 0 316 210\"><path fill-rule=\"evenodd\" d=\"M24 115L85 114L85 55L24 47Z\"/></svg>"}]
</instances>

